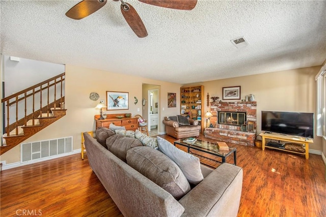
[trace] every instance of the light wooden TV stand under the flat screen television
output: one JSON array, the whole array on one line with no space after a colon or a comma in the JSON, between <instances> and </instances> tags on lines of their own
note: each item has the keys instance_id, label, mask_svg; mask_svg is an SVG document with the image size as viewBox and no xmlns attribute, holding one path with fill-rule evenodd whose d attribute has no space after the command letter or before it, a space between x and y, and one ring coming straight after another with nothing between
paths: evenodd
<instances>
[{"instance_id":1,"label":"light wooden TV stand under the flat screen television","mask_svg":"<svg viewBox=\"0 0 326 217\"><path fill-rule=\"evenodd\" d=\"M309 159L309 143L313 143L312 139L308 139L308 138L300 137L300 136L282 135L282 134L277 134L277 133L267 133L267 134L261 133L259 135L262 137L262 149L263 150L265 150L265 147L267 147L267 148L271 148L271 149L277 149L277 150L282 150L282 151L287 151L287 152L292 152L292 153L297 153L297 154L303 154L306 156L307 160ZM306 151L304 153L301 153L301 152L286 150L282 147L268 146L268 145L266 145L266 139L274 139L274 140L279 140L279 141L302 144L305 146Z\"/></svg>"}]
</instances>

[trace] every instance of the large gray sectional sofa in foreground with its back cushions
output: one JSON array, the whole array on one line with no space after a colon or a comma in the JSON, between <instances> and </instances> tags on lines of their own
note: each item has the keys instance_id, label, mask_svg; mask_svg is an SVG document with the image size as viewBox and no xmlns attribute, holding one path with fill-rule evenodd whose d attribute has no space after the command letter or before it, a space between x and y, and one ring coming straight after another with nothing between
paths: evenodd
<instances>
[{"instance_id":1,"label":"large gray sectional sofa in foreground with its back cushions","mask_svg":"<svg viewBox=\"0 0 326 217\"><path fill-rule=\"evenodd\" d=\"M108 129L98 129L96 136L84 133L89 164L124 216L237 215L240 167L200 165L204 179L190 187L161 151Z\"/></svg>"}]
</instances>

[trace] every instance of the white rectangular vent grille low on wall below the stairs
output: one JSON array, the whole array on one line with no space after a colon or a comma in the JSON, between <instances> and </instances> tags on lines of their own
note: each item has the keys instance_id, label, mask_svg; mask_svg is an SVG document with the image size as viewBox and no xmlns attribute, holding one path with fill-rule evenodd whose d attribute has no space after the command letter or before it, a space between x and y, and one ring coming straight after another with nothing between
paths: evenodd
<instances>
[{"instance_id":1,"label":"white rectangular vent grille low on wall below the stairs","mask_svg":"<svg viewBox=\"0 0 326 217\"><path fill-rule=\"evenodd\" d=\"M20 145L20 159L22 163L56 157L61 154L71 152L73 152L72 136L59 139L22 143Z\"/></svg>"}]
</instances>

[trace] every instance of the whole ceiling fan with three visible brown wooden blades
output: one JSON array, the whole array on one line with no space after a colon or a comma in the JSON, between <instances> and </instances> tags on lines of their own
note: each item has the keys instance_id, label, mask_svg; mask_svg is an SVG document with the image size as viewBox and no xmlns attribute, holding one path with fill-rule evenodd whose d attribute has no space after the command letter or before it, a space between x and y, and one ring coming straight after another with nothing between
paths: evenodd
<instances>
[{"instance_id":1,"label":"whole ceiling fan with three visible brown wooden blades","mask_svg":"<svg viewBox=\"0 0 326 217\"><path fill-rule=\"evenodd\" d=\"M96 12L106 4L107 0L83 0L82 2L73 6L67 11L66 16L72 19L83 19L92 13ZM113 0L121 2L121 13L125 20L133 30L133 32L139 37L146 37L147 30L145 25L138 15L137 11L129 4L122 0ZM138 0L142 3L149 5L155 5L163 8L179 9L179 10L192 10L197 4L197 0Z\"/></svg>"}]
</instances>

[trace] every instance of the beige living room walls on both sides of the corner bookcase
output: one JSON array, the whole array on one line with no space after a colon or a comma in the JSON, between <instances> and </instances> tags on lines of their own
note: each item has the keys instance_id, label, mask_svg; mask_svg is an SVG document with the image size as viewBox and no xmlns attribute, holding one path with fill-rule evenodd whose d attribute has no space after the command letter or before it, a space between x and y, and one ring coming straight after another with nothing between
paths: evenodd
<instances>
[{"instance_id":1,"label":"beige living room walls on both sides of the corner bookcase","mask_svg":"<svg viewBox=\"0 0 326 217\"><path fill-rule=\"evenodd\" d=\"M222 87L241 86L241 99L246 95L254 94L257 101L258 133L260 133L260 113L262 110L314 112L316 110L316 82L315 75L320 67L273 72L259 75L244 76L223 80L214 80L198 84L204 85L205 96L217 96L222 99ZM40 141L53 138L73 136L73 149L80 148L80 133L95 130L94 115L98 101L89 99L90 92L97 92L100 99L106 102L106 90L129 92L129 110L118 110L106 113L138 114L142 109L142 85L159 85L160 119L180 113L180 103L176 108L168 108L168 92L180 94L180 84L146 79L129 75L86 69L75 66L66 66L66 108L67 115L56 121L46 129L37 133L25 142ZM147 93L146 93L147 96ZM134 105L133 97L139 102ZM208 110L205 97L205 112ZM164 108L164 110L163 110ZM159 122L158 129L164 131L164 125ZM325 147L325 144L324 144ZM314 139L311 149L322 150L320 137ZM324 150L325 151L325 148ZM325 152L323 152L324 155ZM20 161L20 149L16 146L1 156L1 161L7 164Z\"/></svg>"}]
</instances>

